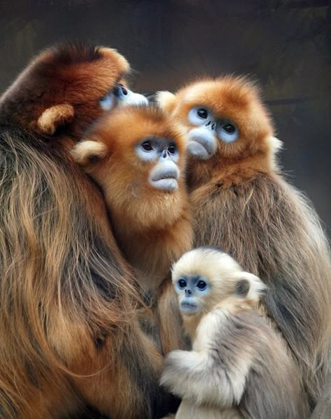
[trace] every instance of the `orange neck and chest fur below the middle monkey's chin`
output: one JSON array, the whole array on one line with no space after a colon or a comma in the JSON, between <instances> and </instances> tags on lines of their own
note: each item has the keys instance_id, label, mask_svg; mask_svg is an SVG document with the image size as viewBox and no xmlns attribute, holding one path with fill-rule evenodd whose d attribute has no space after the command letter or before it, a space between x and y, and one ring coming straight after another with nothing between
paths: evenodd
<instances>
[{"instance_id":1,"label":"orange neck and chest fur below the middle monkey's chin","mask_svg":"<svg viewBox=\"0 0 331 419\"><path fill-rule=\"evenodd\" d=\"M182 187L184 189L184 185ZM155 192L131 202L109 202L114 234L140 285L156 291L173 262L191 248L193 233L186 195Z\"/></svg>"}]
</instances>

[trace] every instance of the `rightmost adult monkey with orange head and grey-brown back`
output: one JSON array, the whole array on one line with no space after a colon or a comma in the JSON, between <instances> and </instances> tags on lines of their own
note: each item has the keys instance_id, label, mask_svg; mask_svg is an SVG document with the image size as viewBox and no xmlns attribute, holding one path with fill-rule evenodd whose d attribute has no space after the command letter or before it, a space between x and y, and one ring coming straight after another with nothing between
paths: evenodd
<instances>
[{"instance_id":1,"label":"rightmost adult monkey with orange head and grey-brown back","mask_svg":"<svg viewBox=\"0 0 331 419\"><path fill-rule=\"evenodd\" d=\"M189 130L195 245L218 245L267 284L267 315L314 406L329 363L330 252L314 208L281 175L280 142L258 91L223 77L159 93L159 101Z\"/></svg>"}]
</instances>

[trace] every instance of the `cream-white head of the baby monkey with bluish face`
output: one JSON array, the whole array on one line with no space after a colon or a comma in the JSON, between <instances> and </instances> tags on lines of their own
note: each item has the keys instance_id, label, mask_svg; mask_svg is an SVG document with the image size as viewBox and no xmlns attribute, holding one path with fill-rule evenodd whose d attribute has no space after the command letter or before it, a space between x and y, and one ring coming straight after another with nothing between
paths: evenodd
<instances>
[{"instance_id":1,"label":"cream-white head of the baby monkey with bluish face","mask_svg":"<svg viewBox=\"0 0 331 419\"><path fill-rule=\"evenodd\" d=\"M207 313L226 301L257 303L265 289L258 277L217 247L184 253L172 266L172 283L183 316Z\"/></svg>"}]
</instances>

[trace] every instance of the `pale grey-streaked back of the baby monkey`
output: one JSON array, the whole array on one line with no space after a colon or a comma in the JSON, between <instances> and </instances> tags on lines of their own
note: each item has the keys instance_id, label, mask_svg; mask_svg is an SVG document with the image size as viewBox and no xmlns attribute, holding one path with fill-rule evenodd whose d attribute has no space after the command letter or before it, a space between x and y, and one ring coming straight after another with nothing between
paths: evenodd
<instances>
[{"instance_id":1,"label":"pale grey-streaked back of the baby monkey","mask_svg":"<svg viewBox=\"0 0 331 419\"><path fill-rule=\"evenodd\" d=\"M216 328L209 349L215 358L216 376L217 365L229 377L246 374L242 398L235 404L242 417L307 418L308 404L300 374L279 333L254 310L240 310L226 316L218 311L219 327L214 322ZM241 386L242 380L232 382L235 389Z\"/></svg>"}]
</instances>

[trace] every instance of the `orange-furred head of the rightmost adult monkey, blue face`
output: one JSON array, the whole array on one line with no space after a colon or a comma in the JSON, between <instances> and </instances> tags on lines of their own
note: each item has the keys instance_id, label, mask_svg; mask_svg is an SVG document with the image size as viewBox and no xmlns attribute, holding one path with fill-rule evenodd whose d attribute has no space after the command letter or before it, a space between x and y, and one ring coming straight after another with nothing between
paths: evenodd
<instances>
[{"instance_id":1,"label":"orange-furred head of the rightmost adult monkey, blue face","mask_svg":"<svg viewBox=\"0 0 331 419\"><path fill-rule=\"evenodd\" d=\"M258 90L243 77L205 79L177 93L159 92L161 107L188 130L189 168L223 168L279 148Z\"/></svg>"}]
</instances>

